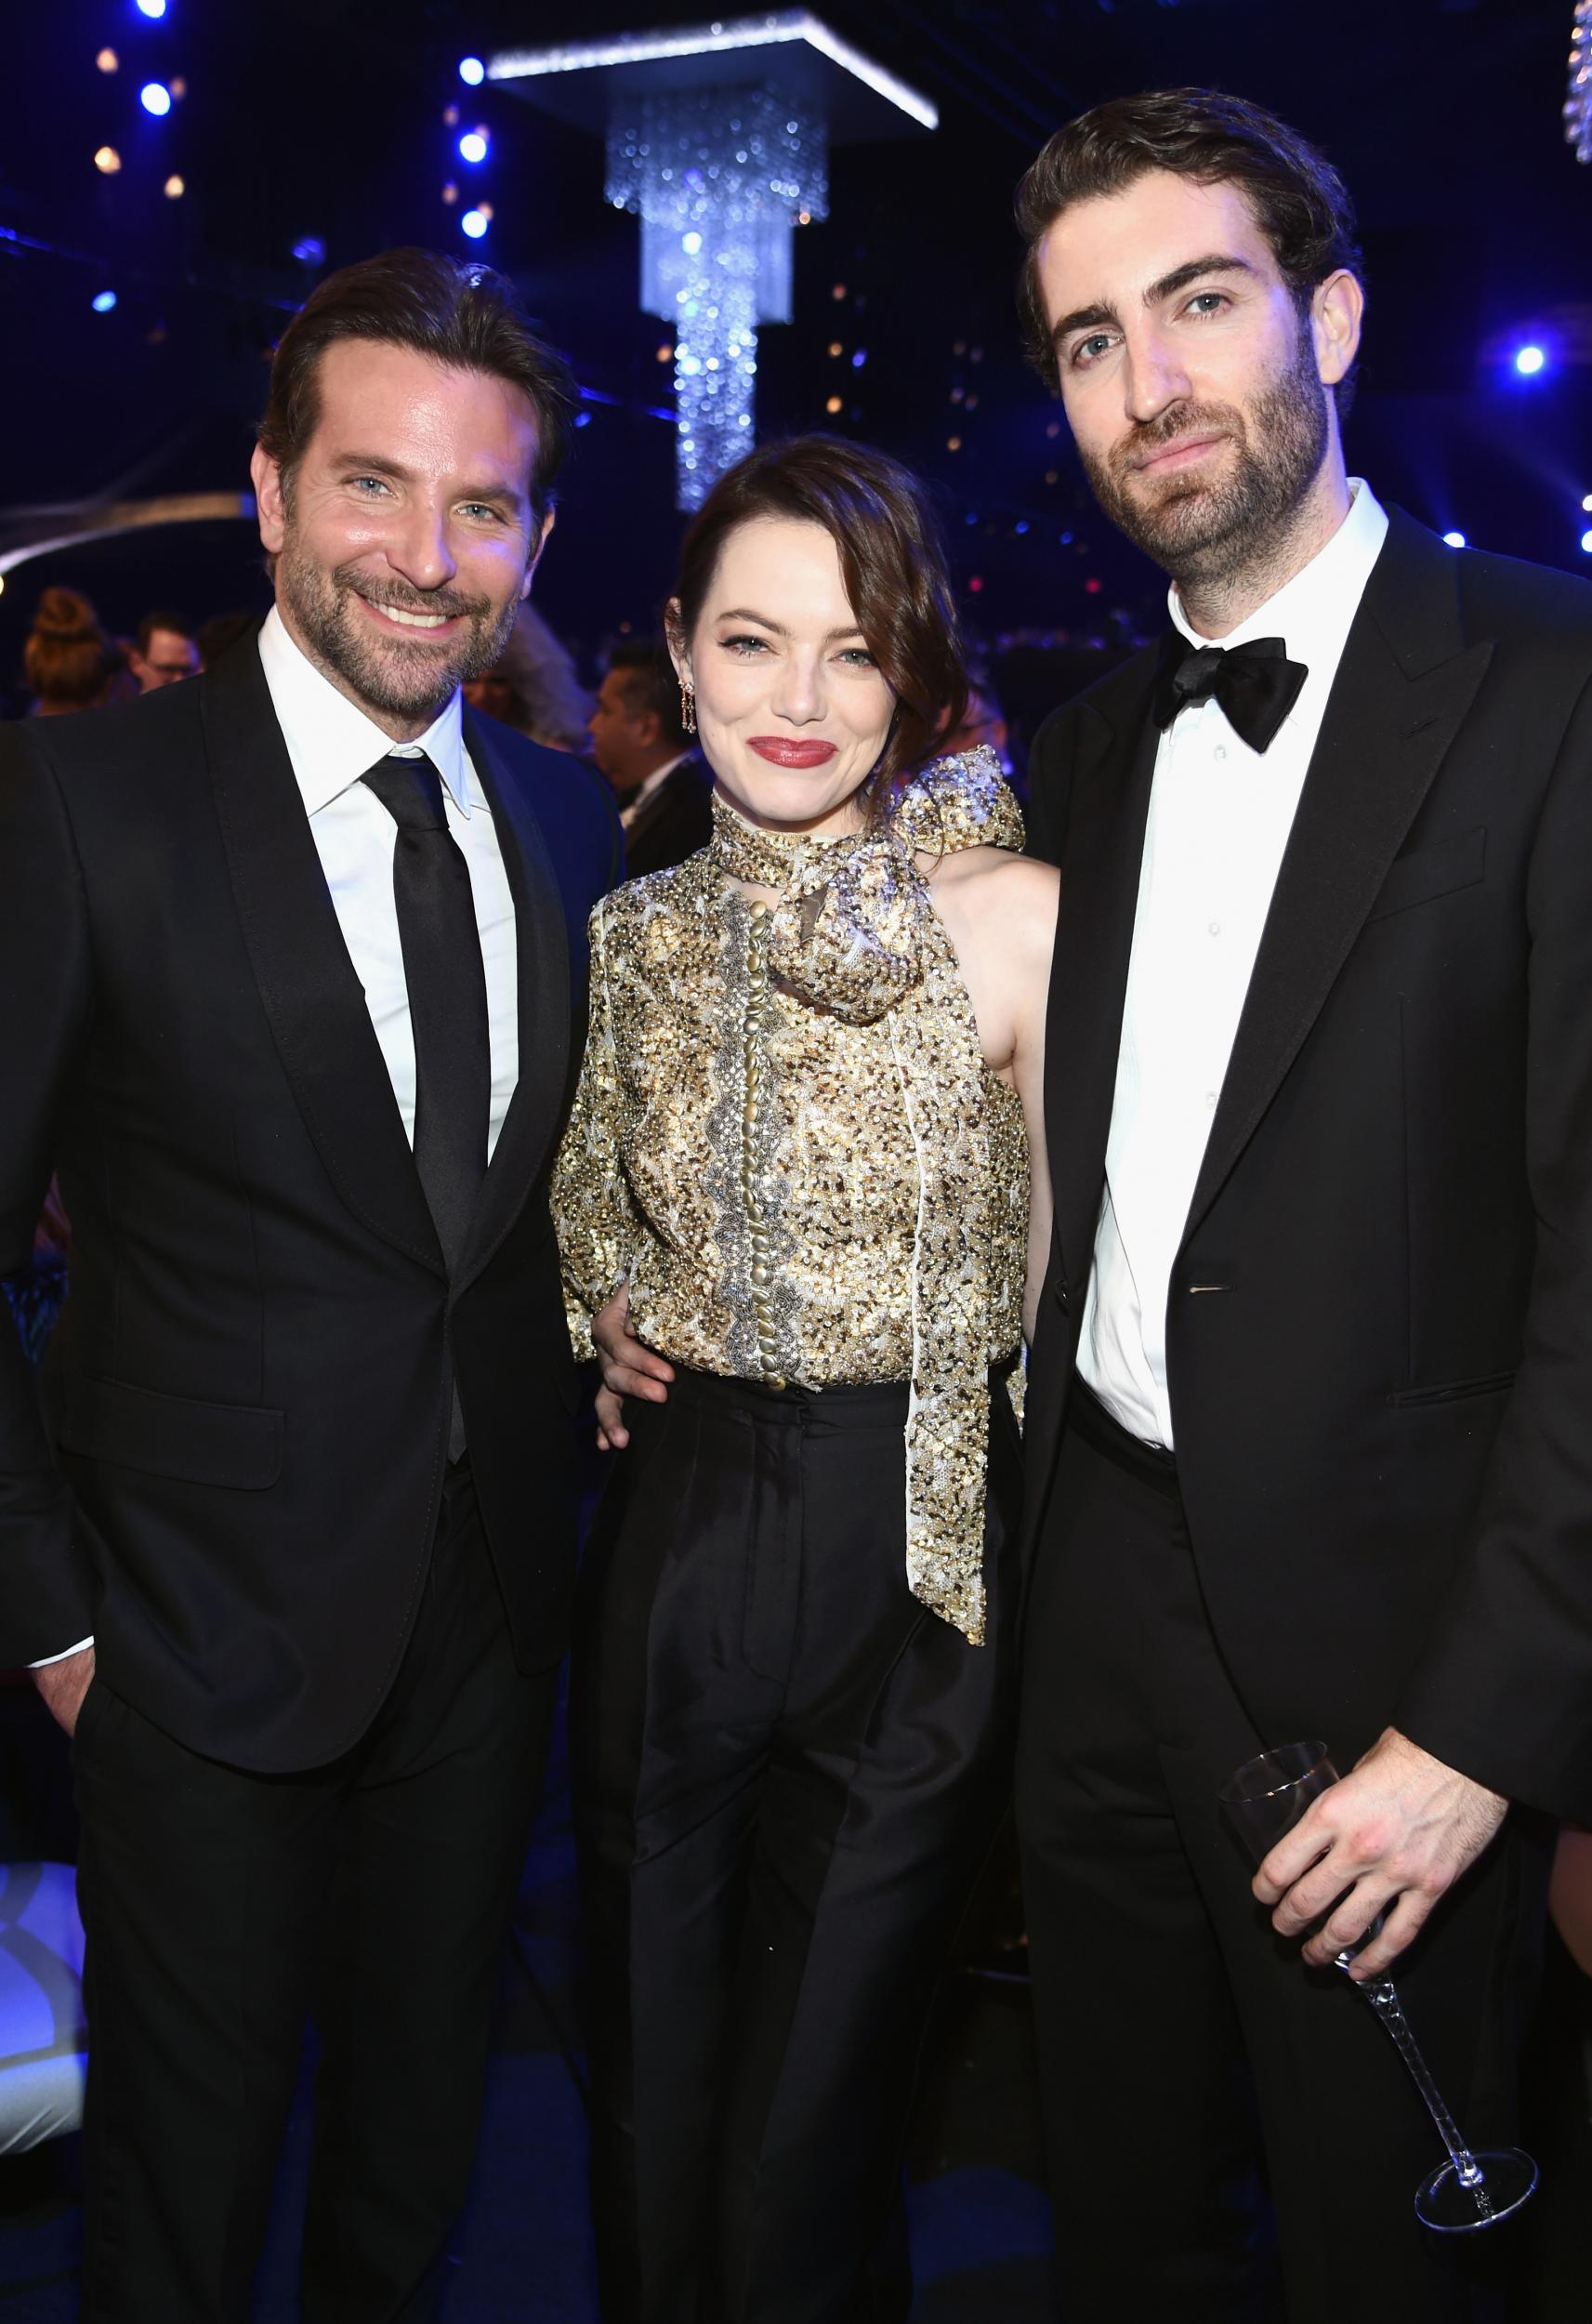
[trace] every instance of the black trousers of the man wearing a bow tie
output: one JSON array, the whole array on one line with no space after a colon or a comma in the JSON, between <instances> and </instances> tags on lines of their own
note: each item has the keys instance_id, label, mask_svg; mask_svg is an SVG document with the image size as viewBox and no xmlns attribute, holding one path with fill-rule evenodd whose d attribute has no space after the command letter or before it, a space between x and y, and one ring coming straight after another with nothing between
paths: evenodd
<instances>
[{"instance_id":1,"label":"black trousers of the man wearing a bow tie","mask_svg":"<svg viewBox=\"0 0 1592 2324\"><path fill-rule=\"evenodd\" d=\"M1018 1745L1062 2317L1513 2319L1518 2222L1415 2222L1443 2159L1420 2096L1341 1971L1306 1971L1271 1931L1222 1824L1225 1778L1301 1738L1257 1734L1234 1692L1169 1464L1074 1394ZM1515 2138L1543 1885L1543 1831L1513 1813L1397 1966L1478 2145Z\"/></svg>"}]
</instances>

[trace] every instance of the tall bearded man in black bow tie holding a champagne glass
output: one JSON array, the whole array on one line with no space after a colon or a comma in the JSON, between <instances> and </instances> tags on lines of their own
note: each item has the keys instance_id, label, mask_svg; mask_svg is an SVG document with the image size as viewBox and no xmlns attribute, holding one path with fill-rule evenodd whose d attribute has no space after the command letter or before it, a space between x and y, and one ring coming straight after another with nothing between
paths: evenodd
<instances>
[{"instance_id":1,"label":"tall bearded man in black bow tie holding a champagne glass","mask_svg":"<svg viewBox=\"0 0 1592 2324\"><path fill-rule=\"evenodd\" d=\"M1592 1810L1592 590L1346 476L1353 211L1281 123L1097 107L1018 214L1037 360L1171 574L1032 758L1018 1810L1064 2315L1274 2315L1262 2145L1292 2324L1497 2315L1515 2229L1415 2224L1436 2136L1327 1964L1397 1959L1508 2140L1546 1820ZM1295 1738L1343 1783L1250 1896L1218 1787Z\"/></svg>"}]
</instances>

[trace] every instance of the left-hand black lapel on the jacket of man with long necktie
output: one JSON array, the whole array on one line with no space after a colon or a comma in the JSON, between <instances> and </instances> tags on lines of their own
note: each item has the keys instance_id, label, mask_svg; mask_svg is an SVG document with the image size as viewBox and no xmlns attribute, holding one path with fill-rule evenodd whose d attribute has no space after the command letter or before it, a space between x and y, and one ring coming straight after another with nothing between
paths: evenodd
<instances>
[{"instance_id":1,"label":"left-hand black lapel on the jacket of man with long necktie","mask_svg":"<svg viewBox=\"0 0 1592 2324\"><path fill-rule=\"evenodd\" d=\"M205 688L205 751L232 897L277 1055L332 1185L374 1234L444 1271L258 653Z\"/></svg>"}]
</instances>

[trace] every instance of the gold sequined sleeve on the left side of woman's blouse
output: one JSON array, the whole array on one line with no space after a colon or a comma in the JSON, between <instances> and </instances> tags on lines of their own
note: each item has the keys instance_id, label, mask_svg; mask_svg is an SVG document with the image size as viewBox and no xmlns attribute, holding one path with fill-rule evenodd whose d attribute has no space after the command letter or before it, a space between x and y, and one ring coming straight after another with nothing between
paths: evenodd
<instances>
[{"instance_id":1,"label":"gold sequined sleeve on the left side of woman's blouse","mask_svg":"<svg viewBox=\"0 0 1592 2324\"><path fill-rule=\"evenodd\" d=\"M590 1023L574 1111L553 1164L553 1227L565 1278L569 1341L593 1357L593 1315L628 1281L641 1218L630 1197L621 1136L621 1069L609 997L604 906L590 916Z\"/></svg>"}]
</instances>

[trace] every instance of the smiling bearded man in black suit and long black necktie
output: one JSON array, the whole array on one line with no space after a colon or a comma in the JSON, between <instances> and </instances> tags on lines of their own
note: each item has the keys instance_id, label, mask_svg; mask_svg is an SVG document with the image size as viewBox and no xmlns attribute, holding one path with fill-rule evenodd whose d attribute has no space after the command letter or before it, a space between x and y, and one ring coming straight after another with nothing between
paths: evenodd
<instances>
[{"instance_id":1,"label":"smiling bearded man in black suit and long black necktie","mask_svg":"<svg viewBox=\"0 0 1592 2324\"><path fill-rule=\"evenodd\" d=\"M572 381L428 251L284 332L277 609L0 737L0 1271L53 1164L40 1418L0 1334L0 1615L74 1729L84 2315L242 2324L300 2036L304 2317L428 2312L572 1578L546 1171L611 802L460 716Z\"/></svg>"}]
</instances>

